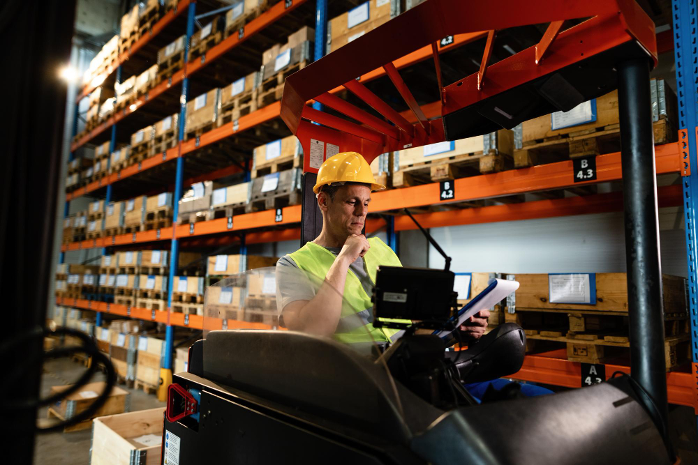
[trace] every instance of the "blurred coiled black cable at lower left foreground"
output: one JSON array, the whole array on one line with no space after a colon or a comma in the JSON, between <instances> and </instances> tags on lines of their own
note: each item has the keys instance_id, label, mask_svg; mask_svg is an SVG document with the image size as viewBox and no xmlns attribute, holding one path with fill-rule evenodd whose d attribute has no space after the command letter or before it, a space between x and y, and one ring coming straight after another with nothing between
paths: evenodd
<instances>
[{"instance_id":1,"label":"blurred coiled black cable at lower left foreground","mask_svg":"<svg viewBox=\"0 0 698 465\"><path fill-rule=\"evenodd\" d=\"M15 353L16 351L22 351L22 346L31 344L32 342L38 343L38 341L36 341L37 339L43 339L43 337L49 335L70 335L73 337L77 337L81 340L82 345L60 347L58 349L52 349L50 351L44 352L42 360L46 360L49 358L60 358L62 356L66 356L72 353L85 353L87 356L92 357L92 364L90 365L89 369L87 369L87 371L85 371L82 374L82 376L80 376L80 379L78 379L73 384L73 386L70 386L70 388L57 394L54 394L50 397L47 397L45 399L34 399L31 397L25 397L23 399L17 399L16 397L13 398L13 396L10 395L10 393L14 393L11 390L11 386L13 386L13 384L10 382L3 382L3 386L6 386L6 389L10 389L10 391L4 392L4 394L0 396L0 409L2 409L3 411L15 412L31 410L36 409L39 406L53 404L54 402L64 399L68 397L68 395L77 392L77 390L80 390L82 386L87 384L87 382L96 372L96 365L98 363L104 365L107 371L107 380L104 390L95 398L94 402L92 402L87 407L87 409L80 413L77 413L73 417L67 418L66 420L58 422L57 424L52 425L50 427L35 427L36 432L40 433L58 431L60 429L64 429L65 427L76 425L77 423L82 422L83 420L88 420L92 418L94 413L96 413L98 409L100 409L100 407L103 406L105 402L107 402L107 399L109 399L109 395L112 392L112 388L114 388L114 386L117 383L117 373L114 371L114 365L112 365L111 360L109 360L107 356L105 356L103 353L101 353L101 351L99 351L98 347L91 339L91 337L89 337L85 333L82 333L81 331L73 330L71 328L57 328L55 330L50 330L46 328L42 330L42 328L37 327L33 330L29 330L22 335L14 337L9 341L0 344L0 359L4 358L5 356L9 356L8 354L12 353L13 351L15 351ZM34 369L34 367L36 367L34 363L22 364L22 368L24 368L24 370ZM12 376L23 376L23 374L13 372ZM2 429L13 429L17 431L17 426L12 423L0 422L0 430ZM24 430L21 431L24 432ZM26 432L33 433L34 431L27 430Z\"/></svg>"}]
</instances>

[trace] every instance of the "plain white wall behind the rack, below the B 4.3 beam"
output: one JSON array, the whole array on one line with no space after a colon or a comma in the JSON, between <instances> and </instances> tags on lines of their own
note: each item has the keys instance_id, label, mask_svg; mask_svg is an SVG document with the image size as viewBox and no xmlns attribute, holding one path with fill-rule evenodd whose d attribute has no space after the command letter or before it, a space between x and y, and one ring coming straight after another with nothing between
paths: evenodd
<instances>
[{"instance_id":1,"label":"plain white wall behind the rack, below the B 4.3 beam","mask_svg":"<svg viewBox=\"0 0 698 465\"><path fill-rule=\"evenodd\" d=\"M662 273L686 276L681 208L660 209ZM623 213L598 213L431 229L456 272L625 272ZM429 245L429 267L444 260Z\"/></svg>"}]
</instances>

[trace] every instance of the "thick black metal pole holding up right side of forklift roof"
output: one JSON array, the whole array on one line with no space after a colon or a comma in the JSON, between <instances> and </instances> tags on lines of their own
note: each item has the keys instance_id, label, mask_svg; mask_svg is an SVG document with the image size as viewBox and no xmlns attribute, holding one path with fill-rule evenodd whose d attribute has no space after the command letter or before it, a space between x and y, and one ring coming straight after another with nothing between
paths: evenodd
<instances>
[{"instance_id":1,"label":"thick black metal pole holding up right side of forklift roof","mask_svg":"<svg viewBox=\"0 0 698 465\"><path fill-rule=\"evenodd\" d=\"M617 68L630 373L651 395L666 422L667 372L649 60L631 59Z\"/></svg>"}]
</instances>

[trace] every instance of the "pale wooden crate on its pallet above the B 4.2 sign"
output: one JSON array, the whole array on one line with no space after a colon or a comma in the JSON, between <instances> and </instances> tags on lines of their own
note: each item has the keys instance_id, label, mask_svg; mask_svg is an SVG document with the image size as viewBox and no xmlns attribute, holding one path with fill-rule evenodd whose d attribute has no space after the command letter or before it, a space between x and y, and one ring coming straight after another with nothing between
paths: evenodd
<instances>
[{"instance_id":1,"label":"pale wooden crate on its pallet above the B 4.2 sign","mask_svg":"<svg viewBox=\"0 0 698 465\"><path fill-rule=\"evenodd\" d=\"M394 153L399 170L392 174L395 188L445 181L468 175L502 171L514 152L514 133L492 134L408 148ZM510 161L508 161L510 163Z\"/></svg>"}]
</instances>

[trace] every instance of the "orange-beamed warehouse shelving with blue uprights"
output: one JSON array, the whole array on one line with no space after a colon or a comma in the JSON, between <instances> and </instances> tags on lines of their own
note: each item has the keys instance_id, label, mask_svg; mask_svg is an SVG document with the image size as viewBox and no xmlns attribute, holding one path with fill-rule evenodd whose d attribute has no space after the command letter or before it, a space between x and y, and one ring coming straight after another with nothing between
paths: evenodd
<instances>
[{"instance_id":1,"label":"orange-beamed warehouse shelving with blue uprights","mask_svg":"<svg viewBox=\"0 0 698 465\"><path fill-rule=\"evenodd\" d=\"M180 2L180 4L184 3L188 4L188 1ZM305 0L292 1L292 5L294 7L299 6L302 3L305 3ZM690 32L689 25L691 22L695 22L697 19L695 10L689 10L688 6L682 5L681 3L683 2L679 0L674 0L673 3L676 13L674 30L681 32L676 34L674 43L675 52L677 54L677 77L678 73L682 69L680 63L683 63L687 73L696 73L696 70L689 69L692 69L689 64L689 60L695 59L696 57L693 55L698 53L693 50L690 53L685 53L685 56L678 55L681 52L682 47L683 50L690 51L692 49L689 44L690 40L695 39L695 31ZM265 17L258 17L256 20L253 20L253 22L248 23L246 25L244 38L250 37L253 33L259 31L267 24L271 24L272 22L283 17L285 14L283 11L283 4L283 1L281 3L277 3L276 6L274 6L276 10L274 10L273 13L269 13L272 12L272 10L269 10L269 12L267 12L269 15ZM326 13L327 5L325 1L318 0L316 8L318 13L322 11ZM678 12L680 12L680 14ZM189 14L193 15L191 10ZM318 15L318 17L319 16L320 15ZM316 29L318 31L318 36L324 37L321 29ZM453 42L450 45L441 47L440 52L445 52L473 40L481 39L486 35L487 32L454 36ZM322 40L319 41L322 42ZM186 77L193 75L195 72L204 68L212 61L215 61L219 56L222 56L225 52L235 47L239 42L240 41L237 40L237 36L234 36L216 45L216 47L207 52L203 62L195 61L195 63L189 63L185 70L182 70L178 75L176 75L176 77L173 77L172 82L168 83L169 86L167 88L160 89L158 86L156 88L157 91L156 89L152 90L149 95L149 100L152 100L159 94L164 93L174 84L184 82ZM316 36L316 46L317 45L318 37ZM420 61L429 59L430 57L431 47L424 47L423 49L419 49L411 54L403 56L403 58L399 60L394 61L394 65L398 69L406 68L408 66L413 66L415 63L419 63ZM119 57L119 59L121 61L121 57ZM368 82L371 79L376 79L383 75L385 75L385 71L379 68L371 73L362 75L359 80L361 82ZM695 79L697 76L692 77ZM688 78L681 77L680 79L677 79L680 83L679 86L683 86L683 79ZM163 83L161 83L161 86L162 85ZM343 89L337 88L331 92L338 93L341 90ZM660 206L683 205L689 218L686 227L687 250L689 251L689 277L690 282L692 283L690 291L691 295L694 297L690 300L690 315L692 334L696 334L698 331L698 312L695 303L695 282L697 281L696 268L698 266L698 261L695 254L691 254L690 251L695 250L697 245L695 236L693 234L693 231L695 231L695 220L693 220L693 218L695 218L695 205L693 199L697 198L696 195L698 195L698 187L692 186L698 186L698 181L693 179L695 176L698 176L698 174L691 173L691 165L695 166L696 162L696 134L692 128L697 125L697 121L695 121L695 112L693 111L695 102L690 101L690 99L685 100L685 97L681 97L681 95L682 94L680 93L679 98L682 100L681 107L686 105L687 111L685 113L688 114L684 114L682 117L681 128L684 129L681 132L681 139L678 143L656 146L655 156L658 174L676 173L681 174L682 176L683 186L670 185L659 188L658 199ZM683 95L685 95L685 93ZM140 107L144 104L145 101L140 102L133 112L138 112ZM256 112L253 112L247 116L242 116L237 121L237 125L231 122L227 125L221 126L220 128L215 128L214 130L206 132L198 139L190 139L188 141L180 142L179 146L171 148L165 154L155 155L147 160L144 160L139 165L127 167L119 171L119 173L114 173L106 178L103 178L101 181L96 181L85 186L84 188L75 190L74 192L70 193L66 199L70 200L82 195L88 195L91 192L105 188L107 185L112 185L126 178L135 176L142 171L152 169L158 165L162 165L165 162L177 160L178 158L181 158L188 153L198 151L205 146L221 142L231 135L235 135L239 132L255 128L258 125L272 121L273 119L279 117L280 109L280 102L275 102L272 105L258 109ZM433 102L430 105L422 105L422 109L427 117L435 116L440 112L440 102ZM131 114L131 110L122 116L119 116L118 119L114 117L113 121L107 123L104 128L98 128L99 132L103 132L110 125L121 121L128 114ZM410 121L415 121L411 112L405 112L403 113L403 116ZM72 149L75 150L76 148L91 142L91 140L93 140L98 134L98 132L95 131L96 130L91 132L91 134L87 137L80 139L80 141L78 141L76 144L73 144ZM686 140L688 140L688 143L684 142ZM689 154L690 158L687 158L689 157ZM688 162L688 160L690 160L690 162ZM239 171L239 169L235 167L223 168L223 170L227 171L221 171L223 173L221 176ZM214 171L214 173L216 172L218 171ZM204 178L211 178L211 176L215 176L214 173L211 173L208 176L198 176L197 178L193 178L188 181L182 181L180 187L181 185L188 185L188 183L196 182L196 180L201 181ZM618 181L620 179L620 153L611 153L597 157L597 180L587 181L586 183L574 183L574 187L607 181ZM526 169L501 171L494 174L459 178L456 179L454 183L456 197L449 203L503 197L508 195L519 195L526 192L563 190L565 188L570 188L573 185L572 162L564 161L551 163L549 165L538 165ZM693 192L693 190L696 191ZM373 195L373 201L371 203L371 213L389 212L399 208L415 208L436 204L438 202L438 193L438 183L417 185L411 188L403 188L387 192L376 192ZM463 209L456 208L450 211L422 213L417 215L417 218L420 222L422 222L422 224L424 224L425 227L445 227L456 224L477 224L482 222L527 220L563 215L599 213L603 211L621 211L622 208L623 204L620 193L613 192L609 194L528 201L497 206ZM178 240L187 239L188 241L192 241L193 244L200 244L201 246L240 241L239 238L230 234L223 236L223 234L230 233L230 231L244 233L244 243L246 244L285 241L300 237L299 228L297 228L297 224L300 222L300 214L300 206L290 206L283 208L283 221L281 223L274 221L274 211L264 211L249 213L246 215L236 215L232 222L232 228L228 227L228 221L225 218L221 218L218 220L196 223L194 224L193 232L191 232L190 225L188 224L179 226L175 225L171 228L162 229L159 231L159 233L158 231L144 231L141 233L114 236L114 238L109 237L82 241L80 243L70 243L64 245L63 250L68 251L81 250L90 247L111 247L112 245L128 247L129 245L133 244L172 241L172 238ZM389 223L392 223L392 231L404 231L414 228L411 220L399 215L394 218L394 221ZM376 231L381 227L387 227L385 220L373 219L371 220L370 224L366 224L366 231L371 233L372 231ZM262 230L265 228L273 229ZM202 329L202 317L195 315L186 317L185 321L183 314L172 314L166 311L153 312L151 310L136 307L129 308L123 305L106 304L80 299L59 298L57 299L57 305L65 305L80 308L82 310L93 310L95 312L118 314L125 317L138 318L147 321L158 321L161 323L166 323L170 326L186 326L188 328ZM236 323L233 320L228 320L227 324L228 328L234 328ZM246 323L245 327L249 328L249 323ZM692 355L693 374L685 372L668 373L667 386L669 387L670 402L698 408L698 388L696 383L698 380L698 350L695 349L695 345ZM623 367L621 365L607 365L607 376L610 376L616 370L628 372L628 367ZM570 388L581 386L579 364L566 360L565 354L561 353L560 351L538 354L535 356L526 356L526 360L521 372L514 375L514 377L525 381L549 383Z\"/></svg>"}]
</instances>

